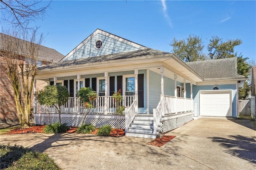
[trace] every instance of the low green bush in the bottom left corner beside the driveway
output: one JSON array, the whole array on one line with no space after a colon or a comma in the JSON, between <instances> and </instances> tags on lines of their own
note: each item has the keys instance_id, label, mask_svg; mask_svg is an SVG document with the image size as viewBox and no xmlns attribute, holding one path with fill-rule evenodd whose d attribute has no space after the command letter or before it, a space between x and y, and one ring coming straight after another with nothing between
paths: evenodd
<instances>
[{"instance_id":1,"label":"low green bush in the bottom left corner beside the driveway","mask_svg":"<svg viewBox=\"0 0 256 170\"><path fill-rule=\"evenodd\" d=\"M16 144L14 146L0 144L0 148L0 169L60 170L60 167L46 153L32 151Z\"/></svg>"}]
</instances>

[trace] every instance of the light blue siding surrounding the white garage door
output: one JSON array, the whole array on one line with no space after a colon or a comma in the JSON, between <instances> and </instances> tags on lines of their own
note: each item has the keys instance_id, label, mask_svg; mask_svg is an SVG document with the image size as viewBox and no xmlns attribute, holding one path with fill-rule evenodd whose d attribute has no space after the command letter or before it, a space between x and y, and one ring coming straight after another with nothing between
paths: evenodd
<instances>
[{"instance_id":1,"label":"light blue siding surrounding the white garage door","mask_svg":"<svg viewBox=\"0 0 256 170\"><path fill-rule=\"evenodd\" d=\"M197 115L200 115L200 107L199 107L199 91L200 90L213 90L214 85L202 85L196 86L193 85L193 99L194 103L197 103ZM232 90L232 116L236 117L236 85L218 85L219 90Z\"/></svg>"}]
</instances>

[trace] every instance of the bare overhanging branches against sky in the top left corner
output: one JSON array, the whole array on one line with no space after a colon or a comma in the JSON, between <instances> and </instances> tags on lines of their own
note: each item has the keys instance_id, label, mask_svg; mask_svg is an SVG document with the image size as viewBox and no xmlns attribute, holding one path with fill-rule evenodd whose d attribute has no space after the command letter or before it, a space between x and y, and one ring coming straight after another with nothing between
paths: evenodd
<instances>
[{"instance_id":1,"label":"bare overhanging branches against sky in the top left corner","mask_svg":"<svg viewBox=\"0 0 256 170\"><path fill-rule=\"evenodd\" d=\"M35 19L42 19L50 2L40 7L42 1L32 0L0 0L1 20L13 25L28 28L28 23Z\"/></svg>"}]
</instances>

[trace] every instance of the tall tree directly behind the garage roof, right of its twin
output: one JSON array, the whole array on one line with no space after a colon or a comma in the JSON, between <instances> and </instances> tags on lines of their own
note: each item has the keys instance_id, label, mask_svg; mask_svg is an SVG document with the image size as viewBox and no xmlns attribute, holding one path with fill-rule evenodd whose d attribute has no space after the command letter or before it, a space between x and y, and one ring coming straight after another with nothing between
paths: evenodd
<instances>
[{"instance_id":1,"label":"tall tree directly behind the garage roof, right of its twin","mask_svg":"<svg viewBox=\"0 0 256 170\"><path fill-rule=\"evenodd\" d=\"M222 41L222 38L218 36L212 36L210 43L207 46L209 51L208 55L210 59L221 59L221 58L230 58L237 57L237 53L234 53L234 47L240 45L242 40L227 40L226 42Z\"/></svg>"}]
</instances>

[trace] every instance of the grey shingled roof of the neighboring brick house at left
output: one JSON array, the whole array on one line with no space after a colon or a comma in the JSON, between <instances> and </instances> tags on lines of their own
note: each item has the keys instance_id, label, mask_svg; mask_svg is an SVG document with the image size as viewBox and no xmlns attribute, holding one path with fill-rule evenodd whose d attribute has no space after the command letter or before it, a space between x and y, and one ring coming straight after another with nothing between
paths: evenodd
<instances>
[{"instance_id":1,"label":"grey shingled roof of the neighboring brick house at left","mask_svg":"<svg viewBox=\"0 0 256 170\"><path fill-rule=\"evenodd\" d=\"M0 33L0 47L1 47L1 50L4 50L2 48L3 47L2 43L4 43L2 41L2 40L4 40L3 36L9 36L9 35ZM12 36L9 36L9 37L10 38L15 38L15 37L12 37ZM16 39L18 39L18 38L16 38ZM28 43L25 40L21 40L21 42L22 43ZM40 61L53 61L53 62L57 62L57 61L60 61L63 57L64 57L64 55L59 53L55 49L48 48L48 47L45 47L45 46L41 45L40 51L39 51L38 60L40 60Z\"/></svg>"}]
</instances>

